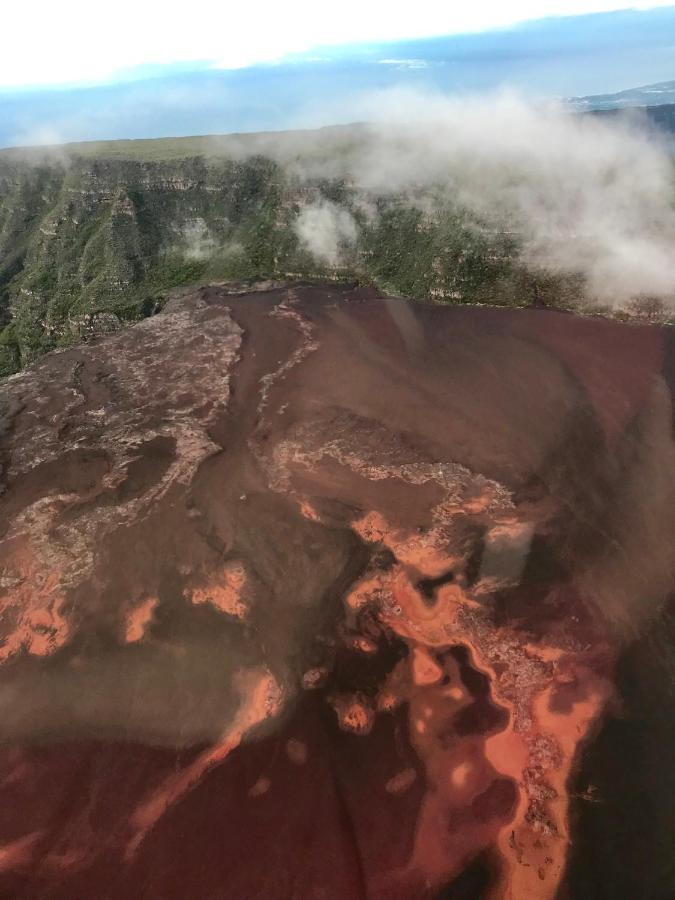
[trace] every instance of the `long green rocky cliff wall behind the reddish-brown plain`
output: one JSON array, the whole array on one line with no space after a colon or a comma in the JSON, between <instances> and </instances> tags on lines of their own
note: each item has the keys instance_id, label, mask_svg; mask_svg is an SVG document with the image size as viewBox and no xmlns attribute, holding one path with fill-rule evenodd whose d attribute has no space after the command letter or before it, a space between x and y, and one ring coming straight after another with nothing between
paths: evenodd
<instances>
[{"instance_id":1,"label":"long green rocky cliff wall behind the reddish-brown plain","mask_svg":"<svg viewBox=\"0 0 675 900\"><path fill-rule=\"evenodd\" d=\"M358 128L322 131L314 163ZM150 315L195 282L349 278L436 302L558 308L583 294L577 275L524 265L516 232L447 196L368 193L314 171L274 135L3 151L0 375ZM339 254L303 240L310 207L347 216L348 233L328 223Z\"/></svg>"}]
</instances>

